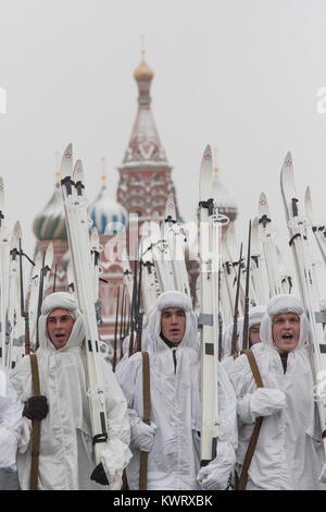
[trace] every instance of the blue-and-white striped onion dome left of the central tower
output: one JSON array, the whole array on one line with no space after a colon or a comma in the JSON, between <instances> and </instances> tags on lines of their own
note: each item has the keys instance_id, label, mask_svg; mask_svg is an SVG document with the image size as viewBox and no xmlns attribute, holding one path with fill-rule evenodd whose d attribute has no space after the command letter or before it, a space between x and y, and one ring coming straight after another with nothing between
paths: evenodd
<instances>
[{"instance_id":1,"label":"blue-and-white striped onion dome left of the central tower","mask_svg":"<svg viewBox=\"0 0 326 512\"><path fill-rule=\"evenodd\" d=\"M105 186L102 186L97 198L89 205L88 215L99 234L123 233L128 223L127 210L110 197Z\"/></svg>"}]
</instances>

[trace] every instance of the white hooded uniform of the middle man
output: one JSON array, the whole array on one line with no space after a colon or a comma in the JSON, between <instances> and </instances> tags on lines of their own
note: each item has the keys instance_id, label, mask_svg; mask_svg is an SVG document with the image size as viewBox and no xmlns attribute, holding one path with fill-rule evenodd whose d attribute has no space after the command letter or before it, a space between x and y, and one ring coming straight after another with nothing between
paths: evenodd
<instances>
[{"instance_id":1,"label":"white hooded uniform of the middle man","mask_svg":"<svg viewBox=\"0 0 326 512\"><path fill-rule=\"evenodd\" d=\"M161 313L170 307L181 308L186 313L184 338L178 346L173 349L160 337ZM130 448L134 458L127 467L129 488L139 488L139 446L142 446L142 450L149 451L148 490L198 489L200 362L197 319L189 297L176 291L162 293L149 312L142 346L150 355L152 425L146 427L151 428L151 442L147 443L143 438L145 424L140 419L143 415L141 354L134 354L116 369L117 380L128 402L131 425ZM235 462L237 446L236 400L227 375L221 366L220 368L218 400L222 425L217 453L220 451L221 461L215 466L214 478L208 477L206 481L211 484L220 479L225 488Z\"/></svg>"}]
</instances>

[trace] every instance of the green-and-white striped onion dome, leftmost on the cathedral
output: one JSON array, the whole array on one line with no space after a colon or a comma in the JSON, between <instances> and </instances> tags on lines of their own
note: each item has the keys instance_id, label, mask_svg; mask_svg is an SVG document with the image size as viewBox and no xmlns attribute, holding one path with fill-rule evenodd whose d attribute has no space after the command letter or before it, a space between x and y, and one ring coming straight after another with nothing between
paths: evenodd
<instances>
[{"instance_id":1,"label":"green-and-white striped onion dome, leftmost on the cathedral","mask_svg":"<svg viewBox=\"0 0 326 512\"><path fill-rule=\"evenodd\" d=\"M51 199L33 222L37 240L66 240L65 216L59 173Z\"/></svg>"}]
</instances>

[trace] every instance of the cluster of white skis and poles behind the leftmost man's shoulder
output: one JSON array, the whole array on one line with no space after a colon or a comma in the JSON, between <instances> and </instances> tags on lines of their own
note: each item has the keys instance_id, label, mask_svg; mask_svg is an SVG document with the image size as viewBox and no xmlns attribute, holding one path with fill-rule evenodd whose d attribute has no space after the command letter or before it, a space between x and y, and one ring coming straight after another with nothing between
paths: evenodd
<instances>
[{"instance_id":1,"label":"cluster of white skis and poles behind the leftmost man's shoulder","mask_svg":"<svg viewBox=\"0 0 326 512\"><path fill-rule=\"evenodd\" d=\"M52 243L47 251L38 251L33 261L22 248L20 221L8 230L0 178L0 363L9 369L38 348L38 318L52 260Z\"/></svg>"}]
</instances>

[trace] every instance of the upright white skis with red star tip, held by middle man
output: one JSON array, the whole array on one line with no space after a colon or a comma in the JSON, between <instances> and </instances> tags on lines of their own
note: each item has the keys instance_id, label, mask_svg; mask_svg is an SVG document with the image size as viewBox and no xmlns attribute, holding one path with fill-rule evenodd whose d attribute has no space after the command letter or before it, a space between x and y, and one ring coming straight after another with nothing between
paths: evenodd
<instances>
[{"instance_id":1,"label":"upright white skis with red star tip, held by middle man","mask_svg":"<svg viewBox=\"0 0 326 512\"><path fill-rule=\"evenodd\" d=\"M201 441L200 463L216 456L218 438L218 267L220 229L212 198L212 149L208 145L200 167L200 348L201 348Z\"/></svg>"}]
</instances>

